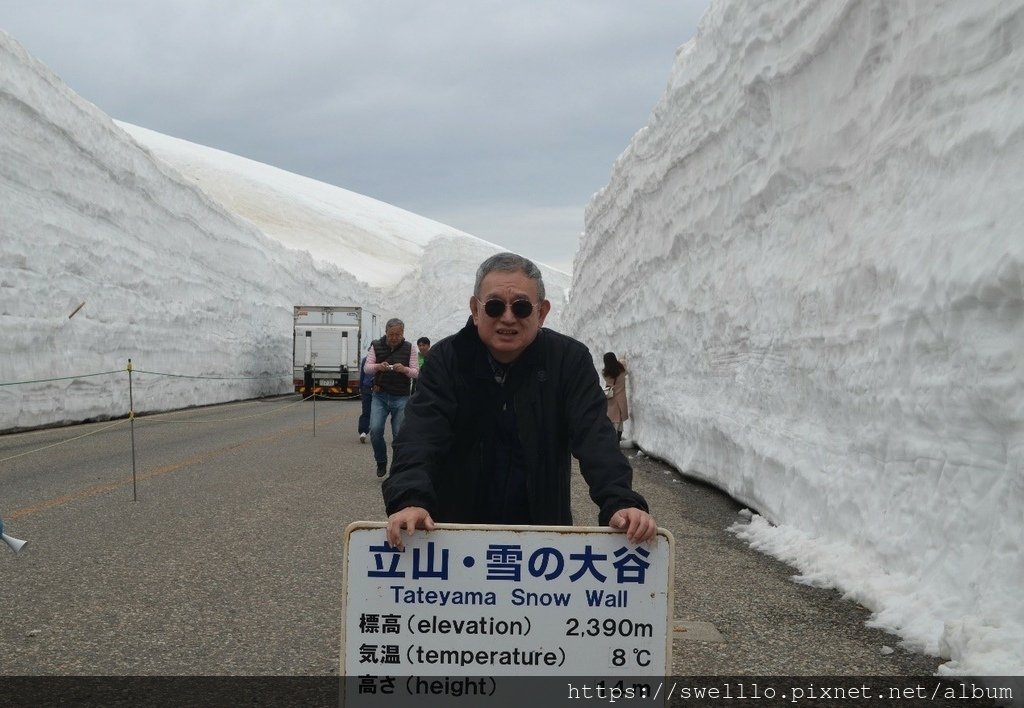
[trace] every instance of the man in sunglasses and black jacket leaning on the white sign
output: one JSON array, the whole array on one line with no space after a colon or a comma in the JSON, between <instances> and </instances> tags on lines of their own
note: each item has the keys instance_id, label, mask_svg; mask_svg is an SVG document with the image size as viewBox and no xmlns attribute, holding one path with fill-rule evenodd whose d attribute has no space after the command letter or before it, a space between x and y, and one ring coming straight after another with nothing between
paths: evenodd
<instances>
[{"instance_id":1,"label":"man in sunglasses and black jacket leaning on the white sign","mask_svg":"<svg viewBox=\"0 0 1024 708\"><path fill-rule=\"evenodd\" d=\"M598 523L634 543L657 525L618 449L587 347L542 329L551 303L531 261L483 261L470 321L430 350L384 483L387 538L434 522L570 526L569 454Z\"/></svg>"}]
</instances>

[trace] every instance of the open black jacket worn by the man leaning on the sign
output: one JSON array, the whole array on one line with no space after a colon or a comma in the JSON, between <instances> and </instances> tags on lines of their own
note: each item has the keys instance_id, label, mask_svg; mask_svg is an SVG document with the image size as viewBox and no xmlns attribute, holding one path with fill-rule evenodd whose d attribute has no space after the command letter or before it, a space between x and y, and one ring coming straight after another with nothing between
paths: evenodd
<instances>
[{"instance_id":1,"label":"open black jacket worn by the man leaning on the sign","mask_svg":"<svg viewBox=\"0 0 1024 708\"><path fill-rule=\"evenodd\" d=\"M524 523L570 526L569 453L600 508L606 526L621 508L647 510L632 490L633 470L618 449L587 347L542 329L509 369L506 394L515 405L526 462L529 518ZM470 322L430 349L416 393L406 406L394 442L391 474L383 487L387 512L426 508L435 522L478 524L486 507L488 440L496 417L494 371Z\"/></svg>"}]
</instances>

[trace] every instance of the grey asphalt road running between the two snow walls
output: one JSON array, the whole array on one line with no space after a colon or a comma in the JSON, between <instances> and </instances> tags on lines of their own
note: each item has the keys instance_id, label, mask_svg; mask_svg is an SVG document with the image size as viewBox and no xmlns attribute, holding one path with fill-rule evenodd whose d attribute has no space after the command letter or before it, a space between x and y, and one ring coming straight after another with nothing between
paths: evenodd
<instances>
[{"instance_id":1,"label":"grey asphalt road running between the two snow walls","mask_svg":"<svg viewBox=\"0 0 1024 708\"><path fill-rule=\"evenodd\" d=\"M0 513L29 540L0 548L0 675L337 675L344 530L385 516L358 402L317 403L315 435L313 410L283 397L139 418L134 485L128 421L0 436ZM674 673L935 672L736 540L732 500L631 462L676 540ZM579 474L573 494L595 524Z\"/></svg>"}]
</instances>

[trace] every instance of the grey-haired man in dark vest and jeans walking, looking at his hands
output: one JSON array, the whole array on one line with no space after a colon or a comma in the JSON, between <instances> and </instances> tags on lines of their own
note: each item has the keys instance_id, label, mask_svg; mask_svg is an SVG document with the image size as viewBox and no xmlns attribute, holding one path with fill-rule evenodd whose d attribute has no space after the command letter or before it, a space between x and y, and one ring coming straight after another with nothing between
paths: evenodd
<instances>
[{"instance_id":1,"label":"grey-haired man in dark vest and jeans walking, looking at his hands","mask_svg":"<svg viewBox=\"0 0 1024 708\"><path fill-rule=\"evenodd\" d=\"M377 476L387 474L387 444L384 424L391 416L391 440L398 438L409 401L411 379L420 368L413 345L406 341L406 323L397 318L387 321L384 336L375 339L367 352L362 370L374 375L373 404L370 408L370 444L377 461Z\"/></svg>"}]
</instances>

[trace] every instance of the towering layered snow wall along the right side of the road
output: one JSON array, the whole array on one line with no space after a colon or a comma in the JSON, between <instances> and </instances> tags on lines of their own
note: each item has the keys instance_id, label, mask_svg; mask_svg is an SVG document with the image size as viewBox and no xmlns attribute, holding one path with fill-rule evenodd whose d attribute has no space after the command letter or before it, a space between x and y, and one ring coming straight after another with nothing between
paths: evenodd
<instances>
[{"instance_id":1,"label":"towering layered snow wall along the right side of the road","mask_svg":"<svg viewBox=\"0 0 1024 708\"><path fill-rule=\"evenodd\" d=\"M1020 0L715 0L564 318L644 450L951 673L1024 673L1022 190Z\"/></svg>"}]
</instances>

